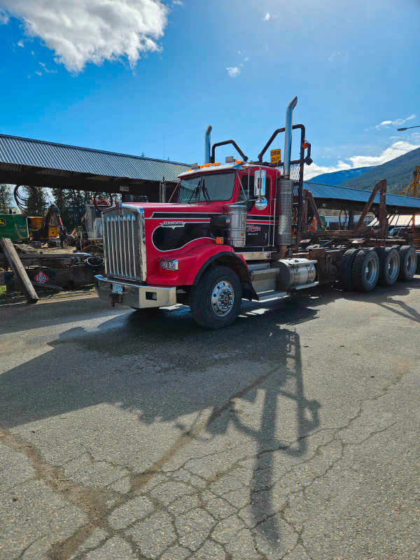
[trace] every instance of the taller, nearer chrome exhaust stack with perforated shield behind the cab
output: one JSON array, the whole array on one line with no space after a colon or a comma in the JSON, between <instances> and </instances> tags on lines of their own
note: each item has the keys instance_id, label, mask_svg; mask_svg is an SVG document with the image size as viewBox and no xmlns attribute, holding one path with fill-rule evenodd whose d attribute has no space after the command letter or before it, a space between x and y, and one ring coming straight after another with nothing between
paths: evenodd
<instances>
[{"instance_id":1,"label":"taller, nearer chrome exhaust stack with perforated shield behind the cab","mask_svg":"<svg viewBox=\"0 0 420 560\"><path fill-rule=\"evenodd\" d=\"M284 155L283 155L283 176L277 180L277 223L276 245L279 248L278 258L286 255L288 246L292 242L292 211L293 211L293 187L294 183L290 179L290 160L292 152L292 127L293 109L297 104L297 97L291 100L286 109L286 128L284 131Z\"/></svg>"}]
</instances>

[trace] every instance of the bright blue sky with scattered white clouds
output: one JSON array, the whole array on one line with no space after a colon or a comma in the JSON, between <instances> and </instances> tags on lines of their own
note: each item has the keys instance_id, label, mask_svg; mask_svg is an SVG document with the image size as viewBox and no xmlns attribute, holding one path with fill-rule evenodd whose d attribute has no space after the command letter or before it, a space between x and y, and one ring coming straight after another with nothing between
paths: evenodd
<instances>
[{"instance_id":1,"label":"bright blue sky with scattered white clouds","mask_svg":"<svg viewBox=\"0 0 420 560\"><path fill-rule=\"evenodd\" d=\"M210 124L252 160L297 95L307 179L379 165L420 146L397 132L420 125L419 19L420 0L0 0L0 132L202 163Z\"/></svg>"}]
</instances>

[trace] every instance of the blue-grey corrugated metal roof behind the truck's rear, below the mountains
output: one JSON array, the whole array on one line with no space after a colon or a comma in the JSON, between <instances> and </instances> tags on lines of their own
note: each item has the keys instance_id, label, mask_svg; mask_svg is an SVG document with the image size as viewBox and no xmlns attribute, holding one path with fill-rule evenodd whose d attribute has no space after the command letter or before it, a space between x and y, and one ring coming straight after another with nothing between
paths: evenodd
<instances>
[{"instance_id":1,"label":"blue-grey corrugated metal roof behind the truck's rear, below the mountains","mask_svg":"<svg viewBox=\"0 0 420 560\"><path fill-rule=\"evenodd\" d=\"M340 200L350 202L367 202L371 195L370 190L360 190L358 188L335 187L322 185L321 183L311 183L304 181L304 188L311 191L315 199ZM379 204L379 193L374 197L374 204ZM404 197L401 195L386 194L387 206L407 208L420 211L420 198Z\"/></svg>"}]
</instances>

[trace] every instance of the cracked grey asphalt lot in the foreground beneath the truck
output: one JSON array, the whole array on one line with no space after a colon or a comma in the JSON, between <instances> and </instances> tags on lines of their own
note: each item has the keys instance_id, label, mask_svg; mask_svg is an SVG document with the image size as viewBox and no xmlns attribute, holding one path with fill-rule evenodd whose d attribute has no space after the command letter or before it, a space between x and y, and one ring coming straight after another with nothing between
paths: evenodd
<instances>
[{"instance_id":1,"label":"cracked grey asphalt lot in the foreground beneath the truck","mask_svg":"<svg viewBox=\"0 0 420 560\"><path fill-rule=\"evenodd\" d=\"M0 559L419 559L419 296L1 306Z\"/></svg>"}]
</instances>

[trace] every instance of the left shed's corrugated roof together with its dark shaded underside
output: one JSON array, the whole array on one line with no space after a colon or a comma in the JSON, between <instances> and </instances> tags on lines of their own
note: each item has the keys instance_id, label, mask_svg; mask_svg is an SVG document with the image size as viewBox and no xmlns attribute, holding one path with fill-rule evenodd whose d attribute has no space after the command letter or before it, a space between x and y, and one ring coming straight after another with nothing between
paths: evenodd
<instances>
[{"instance_id":1,"label":"left shed's corrugated roof together with its dark shaded underside","mask_svg":"<svg viewBox=\"0 0 420 560\"><path fill-rule=\"evenodd\" d=\"M1 183L146 195L157 201L162 177L173 188L177 176L188 167L186 163L0 134Z\"/></svg>"}]
</instances>

